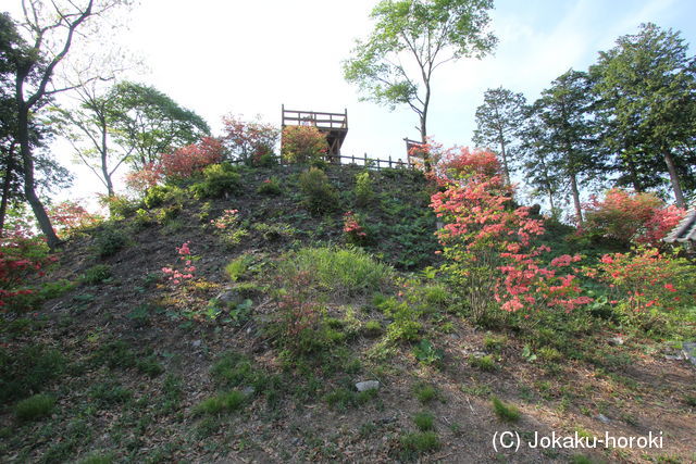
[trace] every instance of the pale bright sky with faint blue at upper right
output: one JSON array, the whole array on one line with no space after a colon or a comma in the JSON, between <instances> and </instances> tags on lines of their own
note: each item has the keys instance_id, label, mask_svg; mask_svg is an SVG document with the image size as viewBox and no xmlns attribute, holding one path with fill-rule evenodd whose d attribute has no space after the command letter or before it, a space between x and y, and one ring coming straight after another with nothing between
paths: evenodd
<instances>
[{"instance_id":1,"label":"pale bright sky with faint blue at upper right","mask_svg":"<svg viewBox=\"0 0 696 464\"><path fill-rule=\"evenodd\" d=\"M18 0L11 0L18 4ZM220 133L221 117L281 124L281 105L348 111L344 154L405 158L405 137L418 139L417 115L360 101L343 78L341 61L371 29L373 0L141 0L114 38L139 57L152 85L203 116ZM693 0L497 0L494 54L443 65L433 76L428 133L445 146L471 143L474 114L487 88L502 86L533 101L568 68L586 70L597 52L654 22L696 43ZM69 148L57 149L70 160ZM67 161L69 162L69 161ZM86 170L63 195L88 197L98 188Z\"/></svg>"}]
</instances>

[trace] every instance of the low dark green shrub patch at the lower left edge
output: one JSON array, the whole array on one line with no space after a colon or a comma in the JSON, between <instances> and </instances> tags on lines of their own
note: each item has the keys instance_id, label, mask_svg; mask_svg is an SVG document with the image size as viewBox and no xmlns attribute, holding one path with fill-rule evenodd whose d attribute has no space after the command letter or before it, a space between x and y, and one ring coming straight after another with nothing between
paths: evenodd
<instances>
[{"instance_id":1,"label":"low dark green shrub patch at the lower left edge","mask_svg":"<svg viewBox=\"0 0 696 464\"><path fill-rule=\"evenodd\" d=\"M58 350L34 344L17 351L0 348L0 404L39 392L67 365Z\"/></svg>"}]
</instances>

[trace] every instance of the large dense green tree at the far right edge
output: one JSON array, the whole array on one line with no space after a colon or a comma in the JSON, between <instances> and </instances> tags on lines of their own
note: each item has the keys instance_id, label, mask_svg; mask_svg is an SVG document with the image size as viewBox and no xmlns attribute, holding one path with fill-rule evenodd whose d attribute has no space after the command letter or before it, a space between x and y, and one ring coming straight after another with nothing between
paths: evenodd
<instances>
[{"instance_id":1,"label":"large dense green tree at the far right edge","mask_svg":"<svg viewBox=\"0 0 696 464\"><path fill-rule=\"evenodd\" d=\"M683 184L694 185L696 164L696 58L687 49L679 32L648 23L620 37L591 67L611 128L606 143L620 170L638 190L655 185L656 171L666 173L682 208Z\"/></svg>"}]
</instances>

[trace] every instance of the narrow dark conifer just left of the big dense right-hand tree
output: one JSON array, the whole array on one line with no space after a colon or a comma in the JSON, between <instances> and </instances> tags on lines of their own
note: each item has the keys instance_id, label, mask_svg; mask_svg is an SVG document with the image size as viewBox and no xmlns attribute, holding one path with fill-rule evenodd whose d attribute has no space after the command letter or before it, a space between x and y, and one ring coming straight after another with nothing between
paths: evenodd
<instances>
[{"instance_id":1,"label":"narrow dark conifer just left of the big dense right-hand tree","mask_svg":"<svg viewBox=\"0 0 696 464\"><path fill-rule=\"evenodd\" d=\"M539 150L549 154L547 167L562 173L568 181L579 225L583 222L580 181L593 178L602 168L595 151L594 100L589 89L586 73L569 70L533 105L542 123Z\"/></svg>"}]
</instances>

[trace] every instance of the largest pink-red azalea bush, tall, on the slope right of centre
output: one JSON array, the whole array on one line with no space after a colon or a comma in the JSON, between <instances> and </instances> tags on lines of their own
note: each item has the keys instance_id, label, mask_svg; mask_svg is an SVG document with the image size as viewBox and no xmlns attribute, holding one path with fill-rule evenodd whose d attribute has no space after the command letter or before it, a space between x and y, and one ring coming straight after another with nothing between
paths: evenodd
<instances>
[{"instance_id":1,"label":"largest pink-red azalea bush, tall, on the slope right of centre","mask_svg":"<svg viewBox=\"0 0 696 464\"><path fill-rule=\"evenodd\" d=\"M433 175L444 189L433 195L431 206L445 221L437 234L446 268L464 289L475 319L486 317L492 296L507 311L570 311L592 301L582 294L577 269L571 267L580 256L540 264L538 256L550 250L532 247L531 239L544 234L543 224L530 217L527 208L511 206L513 187L505 185L494 153L430 149Z\"/></svg>"}]
</instances>

